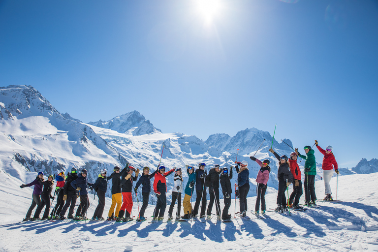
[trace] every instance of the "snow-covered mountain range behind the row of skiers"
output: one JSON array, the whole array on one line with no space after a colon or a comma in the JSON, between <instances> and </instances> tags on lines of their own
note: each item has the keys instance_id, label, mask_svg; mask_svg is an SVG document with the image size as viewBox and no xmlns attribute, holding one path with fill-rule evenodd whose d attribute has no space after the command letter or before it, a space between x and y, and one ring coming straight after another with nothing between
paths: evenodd
<instances>
[{"instance_id":1,"label":"snow-covered mountain range behind the row of skiers","mask_svg":"<svg viewBox=\"0 0 378 252\"><path fill-rule=\"evenodd\" d=\"M289 139L284 142L292 146ZM19 169L53 174L58 169L86 168L89 179L95 180L100 169L106 168L111 173L114 166L124 167L126 162L139 168L146 165L153 168L159 164L163 148L162 164L168 169L183 168L186 164L196 167L199 162L205 162L209 170L214 163L233 165L239 149L238 160L249 162L252 183L249 196L253 196L260 167L249 157L260 145L255 157L272 161L268 192L277 189L277 160L268 152L271 143L270 133L256 128L241 130L233 137L213 134L206 141L183 133L162 133L138 111L106 122L85 124L68 113L61 114L32 86L0 88L0 169L20 180ZM280 155L292 151L276 139L273 148ZM303 162L298 163L303 167ZM317 179L320 179L321 164L317 164L317 169ZM377 172L378 160L363 158L356 167L340 168L340 171L342 174ZM184 177L187 177L185 173ZM169 192L173 183L168 180L167 185Z\"/></svg>"}]
</instances>

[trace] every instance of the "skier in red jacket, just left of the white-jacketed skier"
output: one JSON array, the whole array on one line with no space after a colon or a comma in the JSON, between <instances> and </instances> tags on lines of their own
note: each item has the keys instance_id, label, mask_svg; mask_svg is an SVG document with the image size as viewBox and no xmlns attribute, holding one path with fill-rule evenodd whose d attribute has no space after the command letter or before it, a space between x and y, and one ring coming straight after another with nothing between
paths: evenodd
<instances>
[{"instance_id":1,"label":"skier in red jacket, just left of the white-jacketed skier","mask_svg":"<svg viewBox=\"0 0 378 252\"><path fill-rule=\"evenodd\" d=\"M167 197L165 193L167 192L167 183L165 177L175 171L175 168L172 170L165 172L165 167L160 166L158 168L158 172L155 174L154 180L154 192L158 198L155 212L154 212L154 220L162 221L164 219L164 212L165 208L167 207Z\"/></svg>"}]
</instances>

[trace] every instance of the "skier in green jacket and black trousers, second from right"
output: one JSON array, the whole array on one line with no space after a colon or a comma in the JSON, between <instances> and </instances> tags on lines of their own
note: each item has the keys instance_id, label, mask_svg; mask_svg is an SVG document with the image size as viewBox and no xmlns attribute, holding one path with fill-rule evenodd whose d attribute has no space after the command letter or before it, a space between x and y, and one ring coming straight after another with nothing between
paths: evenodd
<instances>
[{"instance_id":1,"label":"skier in green jacket and black trousers, second from right","mask_svg":"<svg viewBox=\"0 0 378 252\"><path fill-rule=\"evenodd\" d=\"M316 175L316 161L315 161L315 151L311 149L311 146L305 146L303 148L307 156L301 155L298 152L298 148L295 149L296 154L306 159L305 162L305 205L315 205L316 195L315 195L315 175Z\"/></svg>"}]
</instances>

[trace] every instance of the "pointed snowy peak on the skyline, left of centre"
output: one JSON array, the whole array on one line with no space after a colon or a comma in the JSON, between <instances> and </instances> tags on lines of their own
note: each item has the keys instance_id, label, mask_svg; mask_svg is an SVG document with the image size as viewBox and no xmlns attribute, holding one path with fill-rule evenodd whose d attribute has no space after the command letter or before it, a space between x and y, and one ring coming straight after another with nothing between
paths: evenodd
<instances>
[{"instance_id":1,"label":"pointed snowy peak on the skyline, left of centre","mask_svg":"<svg viewBox=\"0 0 378 252\"><path fill-rule=\"evenodd\" d=\"M149 133L161 132L155 128L149 120L134 110L121 116L116 116L109 121L89 122L88 124L108 128L120 133L132 133L132 135L144 135Z\"/></svg>"}]
</instances>

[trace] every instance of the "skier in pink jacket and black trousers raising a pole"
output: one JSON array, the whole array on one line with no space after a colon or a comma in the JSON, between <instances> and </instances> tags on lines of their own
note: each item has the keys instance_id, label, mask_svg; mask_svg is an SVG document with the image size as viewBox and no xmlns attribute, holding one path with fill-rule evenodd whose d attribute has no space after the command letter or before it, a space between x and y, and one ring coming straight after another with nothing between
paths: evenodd
<instances>
[{"instance_id":1,"label":"skier in pink jacket and black trousers raising a pole","mask_svg":"<svg viewBox=\"0 0 378 252\"><path fill-rule=\"evenodd\" d=\"M250 158L256 163L258 163L258 165L260 165L261 167L256 177L256 182L258 184L257 184L257 199L256 199L256 205L254 207L254 214L258 215L258 210L260 208L260 200L261 200L261 213L265 215L265 210L266 210L265 192L266 192L266 189L268 188L270 161L269 159L265 159L263 162L261 162L255 157L250 157Z\"/></svg>"}]
</instances>

